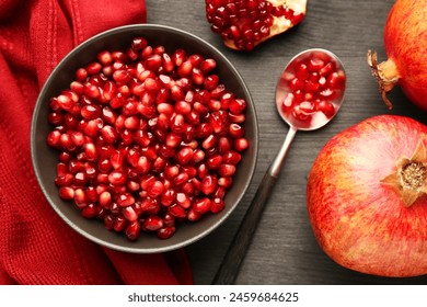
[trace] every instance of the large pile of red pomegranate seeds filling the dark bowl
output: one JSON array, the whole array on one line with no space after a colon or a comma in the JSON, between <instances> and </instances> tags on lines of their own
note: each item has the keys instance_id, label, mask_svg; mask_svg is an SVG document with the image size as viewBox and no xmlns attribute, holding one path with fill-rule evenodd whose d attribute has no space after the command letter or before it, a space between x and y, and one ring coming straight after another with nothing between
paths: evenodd
<instances>
[{"instance_id":1,"label":"large pile of red pomegranate seeds filling the dark bowl","mask_svg":"<svg viewBox=\"0 0 427 307\"><path fill-rule=\"evenodd\" d=\"M136 37L78 69L50 99L59 196L130 240L141 230L166 239L178 223L222 211L249 146L247 105L215 68Z\"/></svg>"}]
</instances>

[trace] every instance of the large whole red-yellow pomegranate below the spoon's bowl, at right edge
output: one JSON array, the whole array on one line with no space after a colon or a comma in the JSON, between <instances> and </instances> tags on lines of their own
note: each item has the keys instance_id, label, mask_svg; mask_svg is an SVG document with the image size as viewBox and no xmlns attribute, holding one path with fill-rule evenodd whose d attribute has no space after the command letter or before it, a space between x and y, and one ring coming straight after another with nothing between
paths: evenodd
<instances>
[{"instance_id":1,"label":"large whole red-yellow pomegranate below the spoon's bowl, at right edge","mask_svg":"<svg viewBox=\"0 0 427 307\"><path fill-rule=\"evenodd\" d=\"M333 137L307 186L319 245L338 264L379 276L427 274L427 127L370 117Z\"/></svg>"}]
</instances>

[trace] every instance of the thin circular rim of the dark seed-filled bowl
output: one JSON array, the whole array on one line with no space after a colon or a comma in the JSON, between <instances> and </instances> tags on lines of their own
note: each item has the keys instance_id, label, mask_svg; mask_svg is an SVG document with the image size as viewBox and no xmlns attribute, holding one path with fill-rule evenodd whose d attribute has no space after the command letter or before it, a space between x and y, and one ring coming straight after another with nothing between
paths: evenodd
<instances>
[{"instance_id":1,"label":"thin circular rim of the dark seed-filled bowl","mask_svg":"<svg viewBox=\"0 0 427 307\"><path fill-rule=\"evenodd\" d=\"M51 200L47 189L45 187L45 183L42 180L42 173L41 169L38 167L38 155L36 150L36 126L37 126L37 118L39 117L39 113L42 110L43 101L45 101L45 95L46 92L49 89L50 83L53 82L53 79L55 76L58 75L58 72L62 69L62 67L67 64L68 59L73 57L76 54L80 53L82 49L84 49L88 45L92 44L93 42L96 42L99 39L102 39L103 37L109 36L115 33L119 32L128 32L128 31L140 31L140 30L161 30L161 31L168 31L172 33L176 33L180 35L188 36L193 41L198 42L201 45L205 45L207 48L211 49L216 56L220 57L221 60L227 62L228 67L233 71L233 75L239 81L239 84L242 87L242 91L245 93L245 95L249 98L249 103L247 107L250 109L250 112L252 113L252 125L253 125L253 139L251 140L251 145L253 146L253 162L250 163L250 169L247 169L247 180L245 180L244 185L242 185L242 192L239 194L239 197L236 197L235 202L232 205L232 208L228 211L227 213L223 214L223 216L218 219L217 223L212 224L209 226L207 229L198 232L195 236L192 236L191 238L186 240L181 240L174 245L166 245L164 247L160 248L138 248L138 247L124 247L124 246L117 246L115 243L112 243L107 240L103 240L96 236L93 236L92 234L85 231L82 229L80 226L74 224L62 211L59 208L58 204L54 200ZM259 150L259 128L258 128L258 120L257 120L257 113L256 113L256 106L254 103L254 100L252 98L252 94L247 88L247 84L245 83L243 77L241 73L238 71L235 66L223 55L222 52L220 52L217 47L205 41L204 38L192 34L187 31L169 26L169 25L161 25L161 24L152 24L152 23L142 23L142 24L129 24L129 25L123 25L123 26L117 26L113 27L109 30L106 30L104 32L101 32L96 35L93 35L89 37L88 39L83 41L76 47L73 47L53 69L53 71L49 73L48 78L45 80L42 90L39 91L37 95L37 100L34 106L33 111L33 116L32 116L32 123L31 123L31 159L32 159L32 167L35 172L35 177L37 180L37 183L43 191L44 196L46 197L47 202L49 203L50 207L54 208L56 214L60 216L60 218L66 221L68 226L70 226L74 231L80 234L81 236L85 237L86 239L91 240L92 242L95 242L102 247L109 248L112 250L117 250L117 251L123 251L123 252L128 252L128 253L158 253L158 252L166 252L166 251L172 251L176 250L183 247L186 247L188 245L192 245L199 239L206 237L210 232L212 232L215 229L217 229L238 207L238 205L241 203L243 196L246 194L249 186L251 185L254 174L255 174L255 169L257 166L257 160L258 160L258 150ZM124 238L126 239L126 238Z\"/></svg>"}]
</instances>

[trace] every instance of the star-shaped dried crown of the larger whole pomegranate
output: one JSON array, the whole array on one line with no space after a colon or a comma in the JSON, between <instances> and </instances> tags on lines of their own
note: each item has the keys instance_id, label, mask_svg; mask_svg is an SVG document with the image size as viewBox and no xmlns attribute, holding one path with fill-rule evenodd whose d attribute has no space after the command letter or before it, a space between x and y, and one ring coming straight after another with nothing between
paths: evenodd
<instances>
[{"instance_id":1,"label":"star-shaped dried crown of the larger whole pomegranate","mask_svg":"<svg viewBox=\"0 0 427 307\"><path fill-rule=\"evenodd\" d=\"M402 157L396 162L396 170L381 180L392 186L402 197L406 207L427 193L427 150L419 141L414 155Z\"/></svg>"}]
</instances>

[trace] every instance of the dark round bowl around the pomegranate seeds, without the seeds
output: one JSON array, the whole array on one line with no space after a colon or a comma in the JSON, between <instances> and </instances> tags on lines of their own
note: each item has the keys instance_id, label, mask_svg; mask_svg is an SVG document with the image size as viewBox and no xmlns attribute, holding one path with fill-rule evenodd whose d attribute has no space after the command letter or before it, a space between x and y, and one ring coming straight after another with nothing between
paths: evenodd
<instances>
[{"instance_id":1,"label":"dark round bowl around the pomegranate seeds, without the seeds","mask_svg":"<svg viewBox=\"0 0 427 307\"><path fill-rule=\"evenodd\" d=\"M168 52L184 48L187 53L198 53L217 60L216 73L227 88L239 96L246 99L249 107L244 128L250 148L243 154L238 167L233 186L226 196L226 208L215 215L205 216L197 223L180 225L175 235L161 240L141 231L137 241L130 241L123 234L108 231L100 220L83 218L76 206L59 198L58 189L54 183L58 152L46 145L46 136L51 126L47 123L49 98L69 87L74 71L96 59L96 54L103 49L125 48L136 36L146 37L151 45L163 45ZM101 33L71 50L55 68L47 79L38 96L32 122L31 150L34 170L38 183L56 213L76 231L88 239L120 251L135 253L163 252L187 246L205 237L217 228L236 207L252 180L258 148L258 129L254 103L242 77L233 65L214 46L195 35L177 29L136 24L113 29Z\"/></svg>"}]
</instances>

